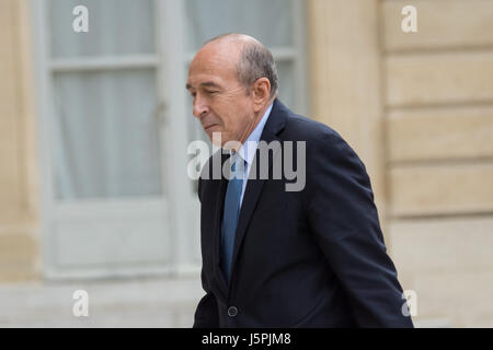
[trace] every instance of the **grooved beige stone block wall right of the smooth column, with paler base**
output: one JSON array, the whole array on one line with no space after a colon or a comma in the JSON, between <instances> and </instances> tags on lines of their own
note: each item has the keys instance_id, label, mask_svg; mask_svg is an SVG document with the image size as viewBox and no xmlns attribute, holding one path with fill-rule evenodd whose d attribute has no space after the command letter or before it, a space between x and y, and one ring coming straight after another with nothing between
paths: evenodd
<instances>
[{"instance_id":1,"label":"grooved beige stone block wall right of the smooth column, with paler base","mask_svg":"<svg viewBox=\"0 0 493 350\"><path fill-rule=\"evenodd\" d=\"M493 1L383 1L381 16L392 255L420 317L493 327Z\"/></svg>"}]
</instances>

